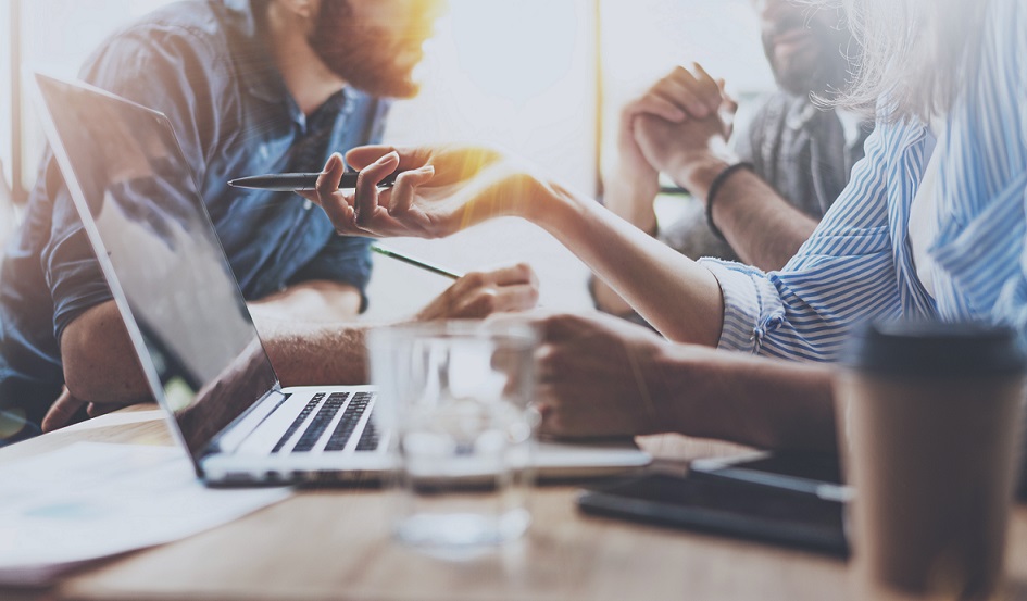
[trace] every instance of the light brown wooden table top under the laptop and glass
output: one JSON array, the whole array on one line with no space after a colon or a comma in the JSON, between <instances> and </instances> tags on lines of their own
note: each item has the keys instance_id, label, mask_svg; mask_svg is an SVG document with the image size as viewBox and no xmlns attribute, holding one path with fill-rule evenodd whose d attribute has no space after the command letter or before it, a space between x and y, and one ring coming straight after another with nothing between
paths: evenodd
<instances>
[{"instance_id":1,"label":"light brown wooden table top under the laptop and glass","mask_svg":"<svg viewBox=\"0 0 1027 601\"><path fill-rule=\"evenodd\" d=\"M170 443L152 405L0 449L13 461L78 440ZM677 436L640 439L657 467L739 447ZM587 516L575 485L541 486L521 541L461 561L394 543L386 492L304 490L185 540L98 562L12 600L659 600L846 599L843 561L803 551ZM1027 505L1014 510L1009 598L1027 599Z\"/></svg>"}]
</instances>

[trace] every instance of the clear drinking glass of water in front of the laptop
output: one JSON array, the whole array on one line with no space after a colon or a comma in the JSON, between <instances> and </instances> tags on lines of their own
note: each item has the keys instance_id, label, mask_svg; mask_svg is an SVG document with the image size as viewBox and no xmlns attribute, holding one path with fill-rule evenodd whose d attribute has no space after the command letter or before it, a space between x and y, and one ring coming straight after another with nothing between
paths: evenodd
<instances>
[{"instance_id":1,"label":"clear drinking glass of water in front of the laptop","mask_svg":"<svg viewBox=\"0 0 1027 601\"><path fill-rule=\"evenodd\" d=\"M377 420L391 430L396 537L469 548L516 539L530 523L538 413L535 329L446 322L368 331Z\"/></svg>"}]
</instances>

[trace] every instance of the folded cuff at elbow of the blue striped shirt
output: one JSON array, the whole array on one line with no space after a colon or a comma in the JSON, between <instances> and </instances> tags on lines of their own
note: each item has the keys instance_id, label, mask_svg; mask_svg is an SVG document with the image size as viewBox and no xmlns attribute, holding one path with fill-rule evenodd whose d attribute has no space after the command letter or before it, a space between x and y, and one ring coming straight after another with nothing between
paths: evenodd
<instances>
[{"instance_id":1,"label":"folded cuff at elbow of the blue striped shirt","mask_svg":"<svg viewBox=\"0 0 1027 601\"><path fill-rule=\"evenodd\" d=\"M701 259L699 263L713 273L724 298L724 325L718 349L757 354L763 338L784 322L785 311L776 293L767 290L773 285L755 267L723 261Z\"/></svg>"}]
</instances>

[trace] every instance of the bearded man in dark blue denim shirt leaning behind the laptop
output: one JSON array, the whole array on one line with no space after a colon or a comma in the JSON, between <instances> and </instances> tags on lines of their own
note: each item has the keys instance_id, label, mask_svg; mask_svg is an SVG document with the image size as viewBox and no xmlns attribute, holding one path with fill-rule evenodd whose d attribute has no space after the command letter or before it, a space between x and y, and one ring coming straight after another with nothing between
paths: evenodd
<instances>
[{"instance_id":1,"label":"bearded man in dark blue denim shirt leaning behind the laptop","mask_svg":"<svg viewBox=\"0 0 1027 601\"><path fill-rule=\"evenodd\" d=\"M439 0L187 0L114 34L82 78L167 115L283 385L365 381L368 240L234 177L317 172L380 140ZM154 206L161 202L153 198ZM52 155L0 267L0 446L149 397ZM183 293L189 293L188 290ZM535 303L530 268L468 274L414 318ZM314 323L316 322L316 323ZM334 325L333 325L334 324Z\"/></svg>"}]
</instances>

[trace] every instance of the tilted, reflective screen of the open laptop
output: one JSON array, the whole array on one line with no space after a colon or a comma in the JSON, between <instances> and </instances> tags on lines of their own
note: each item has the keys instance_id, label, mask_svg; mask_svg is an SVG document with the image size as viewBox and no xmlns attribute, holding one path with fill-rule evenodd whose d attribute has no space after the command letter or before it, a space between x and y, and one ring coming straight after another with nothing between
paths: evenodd
<instances>
[{"instance_id":1,"label":"tilted, reflective screen of the open laptop","mask_svg":"<svg viewBox=\"0 0 1027 601\"><path fill-rule=\"evenodd\" d=\"M163 114L36 80L47 136L150 387L198 460L277 378L193 174Z\"/></svg>"}]
</instances>

